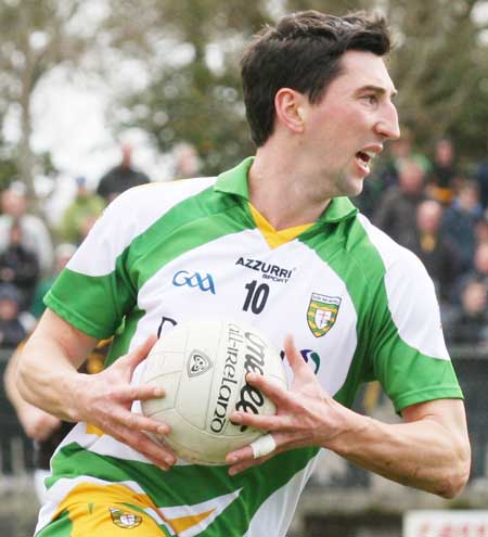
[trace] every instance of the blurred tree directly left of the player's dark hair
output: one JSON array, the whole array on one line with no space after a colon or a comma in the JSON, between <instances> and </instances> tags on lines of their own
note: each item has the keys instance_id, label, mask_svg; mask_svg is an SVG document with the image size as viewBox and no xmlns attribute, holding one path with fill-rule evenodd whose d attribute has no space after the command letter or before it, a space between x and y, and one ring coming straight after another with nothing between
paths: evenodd
<instances>
[{"instance_id":1,"label":"blurred tree directly left of the player's dark hair","mask_svg":"<svg viewBox=\"0 0 488 537\"><path fill-rule=\"evenodd\" d=\"M114 1L114 27L132 38L143 27L142 38L123 41L134 56L147 60L151 73L147 86L127 97L131 114L120 128L144 129L162 152L191 143L203 174L252 153L239 53L243 41L270 20L265 1Z\"/></svg>"}]
</instances>

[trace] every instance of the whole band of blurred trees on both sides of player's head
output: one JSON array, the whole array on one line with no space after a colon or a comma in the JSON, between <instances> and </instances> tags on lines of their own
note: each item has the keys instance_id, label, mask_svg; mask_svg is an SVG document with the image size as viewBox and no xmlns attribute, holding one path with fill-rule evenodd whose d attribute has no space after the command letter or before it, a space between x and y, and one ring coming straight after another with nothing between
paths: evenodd
<instances>
[{"instance_id":1,"label":"whole band of blurred trees on both sides of player's head","mask_svg":"<svg viewBox=\"0 0 488 537\"><path fill-rule=\"evenodd\" d=\"M31 150L33 94L60 66L105 74L115 130L141 128L162 153L189 142L203 174L235 164L254 151L239 78L242 49L267 22L305 9L384 12L397 41L390 71L403 124L425 152L448 135L465 158L477 159L488 128L487 7L487 0L4 0L0 122L18 117L21 136L11 146L0 136L0 181L15 171L34 192L34 176L49 158ZM113 82L108 73L118 62L136 66L133 85Z\"/></svg>"}]
</instances>

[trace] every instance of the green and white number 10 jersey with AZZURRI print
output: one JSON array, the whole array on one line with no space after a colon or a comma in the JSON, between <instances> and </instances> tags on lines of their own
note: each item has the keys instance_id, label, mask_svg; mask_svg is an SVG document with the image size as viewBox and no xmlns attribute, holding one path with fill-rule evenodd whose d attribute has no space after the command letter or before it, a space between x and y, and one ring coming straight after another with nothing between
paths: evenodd
<instances>
[{"instance_id":1,"label":"green and white number 10 jersey with AZZURRI print","mask_svg":"<svg viewBox=\"0 0 488 537\"><path fill-rule=\"evenodd\" d=\"M323 388L348 407L371 380L397 411L461 398L419 259L345 197L301 232L273 231L249 204L251 164L117 197L46 304L91 336L115 334L108 362L175 323L224 315L256 325L279 348L292 333ZM284 536L320 453L283 452L235 477L227 466L183 461L164 472L80 423L53 457L38 529L75 487L115 483L151 499L163 535Z\"/></svg>"}]
</instances>

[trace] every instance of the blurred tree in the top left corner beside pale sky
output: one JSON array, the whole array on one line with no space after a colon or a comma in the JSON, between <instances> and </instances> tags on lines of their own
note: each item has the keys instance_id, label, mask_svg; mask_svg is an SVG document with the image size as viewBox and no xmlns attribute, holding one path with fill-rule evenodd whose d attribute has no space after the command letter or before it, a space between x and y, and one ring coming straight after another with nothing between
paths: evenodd
<instances>
[{"instance_id":1,"label":"blurred tree in the top left corner beside pale sky","mask_svg":"<svg viewBox=\"0 0 488 537\"><path fill-rule=\"evenodd\" d=\"M5 0L0 7L0 118L18 117L20 140L11 148L1 143L0 178L15 174L34 195L34 178L49 172L49 155L35 155L31 148L33 94L54 67L75 65L91 42L77 30L82 0ZM9 181L9 178L5 178Z\"/></svg>"}]
</instances>

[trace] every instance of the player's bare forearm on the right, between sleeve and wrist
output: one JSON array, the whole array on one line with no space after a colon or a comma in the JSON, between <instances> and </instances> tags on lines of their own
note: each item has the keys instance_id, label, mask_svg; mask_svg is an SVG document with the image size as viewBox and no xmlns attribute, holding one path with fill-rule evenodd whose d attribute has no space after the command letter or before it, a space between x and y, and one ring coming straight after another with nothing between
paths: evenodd
<instances>
[{"instance_id":1,"label":"player's bare forearm on the right, between sleeve and wrist","mask_svg":"<svg viewBox=\"0 0 488 537\"><path fill-rule=\"evenodd\" d=\"M435 417L387 424L345 411L346 429L326 446L336 453L384 477L445 498L463 488L471 455L467 438L457 427L450 430Z\"/></svg>"}]
</instances>

